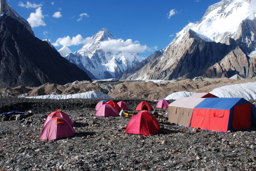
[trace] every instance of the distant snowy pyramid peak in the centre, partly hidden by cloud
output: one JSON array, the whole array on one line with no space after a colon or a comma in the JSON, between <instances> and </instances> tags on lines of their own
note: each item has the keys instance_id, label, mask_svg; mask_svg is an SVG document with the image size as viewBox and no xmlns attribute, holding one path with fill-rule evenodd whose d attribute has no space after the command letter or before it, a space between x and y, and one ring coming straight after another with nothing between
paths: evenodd
<instances>
[{"instance_id":1,"label":"distant snowy pyramid peak in the centre, partly hidden by cloud","mask_svg":"<svg viewBox=\"0 0 256 171\"><path fill-rule=\"evenodd\" d=\"M82 70L90 71L97 79L117 78L125 70L141 62L143 58L137 53L102 48L105 42L116 39L111 32L103 28L92 36L90 43L65 58Z\"/></svg>"}]
</instances>

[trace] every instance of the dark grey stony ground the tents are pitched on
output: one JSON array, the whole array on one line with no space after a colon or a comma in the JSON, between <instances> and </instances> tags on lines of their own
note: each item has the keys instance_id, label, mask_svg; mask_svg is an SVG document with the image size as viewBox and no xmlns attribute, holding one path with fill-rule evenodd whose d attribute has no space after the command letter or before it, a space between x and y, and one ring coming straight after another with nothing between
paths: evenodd
<instances>
[{"instance_id":1,"label":"dark grey stony ground the tents are pitched on","mask_svg":"<svg viewBox=\"0 0 256 171\"><path fill-rule=\"evenodd\" d=\"M32 110L14 120L0 117L0 169L51 170L256 170L256 129L210 132L159 122L152 136L124 133L130 118L94 117L100 100L1 98L0 113ZM115 99L115 101L119 101ZM124 100L132 110L140 100ZM155 107L156 102L149 101ZM62 110L74 122L75 135L39 140L44 119ZM3 121L6 120L6 121Z\"/></svg>"}]
</instances>

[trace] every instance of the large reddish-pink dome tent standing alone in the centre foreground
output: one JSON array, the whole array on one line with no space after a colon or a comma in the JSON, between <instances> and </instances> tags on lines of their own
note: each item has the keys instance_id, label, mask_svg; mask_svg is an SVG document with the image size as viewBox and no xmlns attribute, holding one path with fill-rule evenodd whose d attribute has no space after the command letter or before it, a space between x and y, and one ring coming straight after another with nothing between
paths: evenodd
<instances>
[{"instance_id":1,"label":"large reddish-pink dome tent standing alone in the centre foreground","mask_svg":"<svg viewBox=\"0 0 256 171\"><path fill-rule=\"evenodd\" d=\"M154 135L160 130L156 117L149 111L141 111L131 118L126 126L126 133L141 134L141 135Z\"/></svg>"}]
</instances>

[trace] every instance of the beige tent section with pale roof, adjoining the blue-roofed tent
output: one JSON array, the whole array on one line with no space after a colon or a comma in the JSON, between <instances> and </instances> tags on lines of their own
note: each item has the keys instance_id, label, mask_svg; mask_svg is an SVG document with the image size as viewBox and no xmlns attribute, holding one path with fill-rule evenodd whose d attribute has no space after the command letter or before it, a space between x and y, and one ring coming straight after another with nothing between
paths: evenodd
<instances>
[{"instance_id":1,"label":"beige tent section with pale roof, adjoining the blue-roofed tent","mask_svg":"<svg viewBox=\"0 0 256 171\"><path fill-rule=\"evenodd\" d=\"M179 98L168 105L168 121L188 127L193 109L205 98Z\"/></svg>"}]
</instances>

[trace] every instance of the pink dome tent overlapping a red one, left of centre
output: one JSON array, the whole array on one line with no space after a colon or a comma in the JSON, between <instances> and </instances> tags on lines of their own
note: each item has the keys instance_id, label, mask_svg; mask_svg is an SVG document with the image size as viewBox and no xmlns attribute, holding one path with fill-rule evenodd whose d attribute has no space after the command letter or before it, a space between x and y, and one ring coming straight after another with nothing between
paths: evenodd
<instances>
[{"instance_id":1,"label":"pink dome tent overlapping a red one, left of centre","mask_svg":"<svg viewBox=\"0 0 256 171\"><path fill-rule=\"evenodd\" d=\"M119 113L115 107L106 103L98 109L95 116L97 116L97 117L118 117Z\"/></svg>"}]
</instances>

